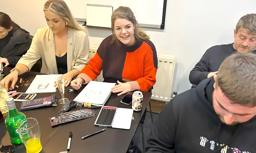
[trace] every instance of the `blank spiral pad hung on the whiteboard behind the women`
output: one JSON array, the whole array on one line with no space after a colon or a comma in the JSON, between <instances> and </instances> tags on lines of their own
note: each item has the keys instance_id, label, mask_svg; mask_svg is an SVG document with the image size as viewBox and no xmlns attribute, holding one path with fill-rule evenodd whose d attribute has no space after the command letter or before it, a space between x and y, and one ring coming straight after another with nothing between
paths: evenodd
<instances>
[{"instance_id":1,"label":"blank spiral pad hung on the whiteboard behind the women","mask_svg":"<svg viewBox=\"0 0 256 153\"><path fill-rule=\"evenodd\" d=\"M86 4L86 26L111 28L112 5Z\"/></svg>"}]
</instances>

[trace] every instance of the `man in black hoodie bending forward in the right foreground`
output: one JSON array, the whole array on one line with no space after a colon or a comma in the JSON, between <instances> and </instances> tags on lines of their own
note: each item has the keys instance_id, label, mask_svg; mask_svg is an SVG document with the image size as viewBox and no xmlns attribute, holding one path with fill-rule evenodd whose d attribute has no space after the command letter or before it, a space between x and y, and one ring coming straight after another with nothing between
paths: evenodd
<instances>
[{"instance_id":1,"label":"man in black hoodie bending forward in the right foreground","mask_svg":"<svg viewBox=\"0 0 256 153\"><path fill-rule=\"evenodd\" d=\"M146 152L255 153L255 70L255 54L232 54L213 77L175 96L154 121Z\"/></svg>"}]
</instances>

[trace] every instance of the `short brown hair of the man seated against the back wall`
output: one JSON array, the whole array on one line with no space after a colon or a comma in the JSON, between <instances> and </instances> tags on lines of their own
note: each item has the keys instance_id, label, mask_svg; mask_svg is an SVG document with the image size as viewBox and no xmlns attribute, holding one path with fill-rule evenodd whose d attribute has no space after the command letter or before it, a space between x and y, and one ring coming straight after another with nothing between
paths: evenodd
<instances>
[{"instance_id":1,"label":"short brown hair of the man seated against the back wall","mask_svg":"<svg viewBox=\"0 0 256 153\"><path fill-rule=\"evenodd\" d=\"M237 22L236 30L244 29L250 35L256 35L256 14L246 14Z\"/></svg>"}]
</instances>

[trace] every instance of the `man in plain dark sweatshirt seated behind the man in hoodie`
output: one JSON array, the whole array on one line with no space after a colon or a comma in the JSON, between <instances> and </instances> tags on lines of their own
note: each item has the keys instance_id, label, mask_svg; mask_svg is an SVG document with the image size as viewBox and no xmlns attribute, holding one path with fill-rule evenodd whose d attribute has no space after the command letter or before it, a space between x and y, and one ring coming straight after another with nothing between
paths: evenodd
<instances>
[{"instance_id":1,"label":"man in plain dark sweatshirt seated behind the man in hoodie","mask_svg":"<svg viewBox=\"0 0 256 153\"><path fill-rule=\"evenodd\" d=\"M189 73L191 84L212 77L224 59L233 53L256 53L256 14L241 17L234 29L234 43L209 48Z\"/></svg>"}]
</instances>

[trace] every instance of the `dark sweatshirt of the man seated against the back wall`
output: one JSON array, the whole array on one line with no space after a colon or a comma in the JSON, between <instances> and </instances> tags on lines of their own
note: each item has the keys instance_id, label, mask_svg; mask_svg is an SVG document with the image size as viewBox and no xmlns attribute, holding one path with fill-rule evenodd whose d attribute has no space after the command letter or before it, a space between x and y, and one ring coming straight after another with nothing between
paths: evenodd
<instances>
[{"instance_id":1,"label":"dark sweatshirt of the man seated against the back wall","mask_svg":"<svg viewBox=\"0 0 256 153\"><path fill-rule=\"evenodd\" d=\"M209 48L202 56L200 61L189 73L189 81L191 84L198 85L202 80L207 79L209 72L218 71L219 66L225 58L237 51L232 44L217 45ZM256 50L252 51L256 53Z\"/></svg>"}]
</instances>

